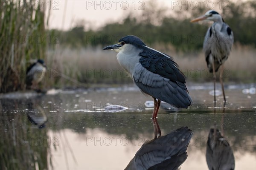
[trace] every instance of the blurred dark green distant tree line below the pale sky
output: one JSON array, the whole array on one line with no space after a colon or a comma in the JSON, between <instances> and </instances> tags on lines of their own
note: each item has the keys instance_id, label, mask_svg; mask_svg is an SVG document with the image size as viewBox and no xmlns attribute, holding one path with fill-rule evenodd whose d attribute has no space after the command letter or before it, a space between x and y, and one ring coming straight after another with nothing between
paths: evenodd
<instances>
[{"instance_id":1,"label":"blurred dark green distant tree line below the pale sky","mask_svg":"<svg viewBox=\"0 0 256 170\"><path fill-rule=\"evenodd\" d=\"M189 52L202 48L209 24L190 23L190 20L204 14L208 9L176 10L172 16L166 16L164 11L168 9L151 8L152 10L143 11L140 16L129 14L121 22L109 23L96 31L85 30L84 25L80 24L69 31L50 30L49 34L51 37L57 35L61 45L71 48L109 45L130 34L142 38L148 45L172 44L178 51ZM221 15L232 28L235 42L256 47L255 11L255 1L229 1L228 7L223 6Z\"/></svg>"}]
</instances>

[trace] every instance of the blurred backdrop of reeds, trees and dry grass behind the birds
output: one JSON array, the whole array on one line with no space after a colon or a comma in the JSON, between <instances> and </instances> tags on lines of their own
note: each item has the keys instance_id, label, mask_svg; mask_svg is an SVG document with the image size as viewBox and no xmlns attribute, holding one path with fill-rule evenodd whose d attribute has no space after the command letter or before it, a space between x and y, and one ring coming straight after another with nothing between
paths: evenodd
<instances>
[{"instance_id":1,"label":"blurred backdrop of reeds, trees and dry grass behind the birds","mask_svg":"<svg viewBox=\"0 0 256 170\"><path fill-rule=\"evenodd\" d=\"M8 2L12 3L12 0ZM229 1L229 6L221 4L220 13L235 37L233 52L225 63L227 75L224 81L256 82L256 2ZM116 43L125 35L136 35L148 46L174 57L187 76L187 82L211 81L202 45L212 23L190 23L192 18L201 16L208 9L171 11L157 6L157 2L145 5L147 10L120 16L119 22L109 22L95 29L85 20L79 20L67 31L47 29L49 18L45 18L44 10L4 6L0 11L1 37L39 34L45 38L42 43L19 43L13 42L12 38L11 41L1 40L0 92L24 89L24 77L8 77L6 72L25 69L31 58L46 60L48 71L42 82L45 88L132 83L116 62L116 54L102 51L102 47ZM167 14L169 11L172 13ZM189 74L192 69L197 71L193 75ZM200 69L202 74L198 72Z\"/></svg>"}]
</instances>

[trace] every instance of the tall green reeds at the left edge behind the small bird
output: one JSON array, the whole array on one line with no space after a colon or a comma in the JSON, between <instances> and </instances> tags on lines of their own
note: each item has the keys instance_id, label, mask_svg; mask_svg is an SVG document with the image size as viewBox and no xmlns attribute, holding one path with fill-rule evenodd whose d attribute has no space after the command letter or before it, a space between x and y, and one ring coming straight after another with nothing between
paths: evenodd
<instances>
[{"instance_id":1,"label":"tall green reeds at the left edge behind the small bird","mask_svg":"<svg viewBox=\"0 0 256 170\"><path fill-rule=\"evenodd\" d=\"M36 2L38 1L0 2L0 92L24 89L29 61L46 58L46 1Z\"/></svg>"}]
</instances>

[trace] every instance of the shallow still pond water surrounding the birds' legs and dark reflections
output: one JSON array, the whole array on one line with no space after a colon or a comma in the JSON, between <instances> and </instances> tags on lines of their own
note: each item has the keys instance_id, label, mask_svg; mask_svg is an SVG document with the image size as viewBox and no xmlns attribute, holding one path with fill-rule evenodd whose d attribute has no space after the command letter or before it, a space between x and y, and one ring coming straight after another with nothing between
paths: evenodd
<instances>
[{"instance_id":1,"label":"shallow still pond water surrounding the birds' legs and dark reflections","mask_svg":"<svg viewBox=\"0 0 256 170\"><path fill-rule=\"evenodd\" d=\"M212 127L230 144L235 169L256 169L256 95L244 90L254 86L227 86L227 107L219 95L215 109L211 85L188 87L191 107L157 115L162 136L182 126L193 131L181 169L208 168ZM1 169L124 169L154 138L149 100L136 87L1 94ZM110 104L128 109L105 110Z\"/></svg>"}]
</instances>

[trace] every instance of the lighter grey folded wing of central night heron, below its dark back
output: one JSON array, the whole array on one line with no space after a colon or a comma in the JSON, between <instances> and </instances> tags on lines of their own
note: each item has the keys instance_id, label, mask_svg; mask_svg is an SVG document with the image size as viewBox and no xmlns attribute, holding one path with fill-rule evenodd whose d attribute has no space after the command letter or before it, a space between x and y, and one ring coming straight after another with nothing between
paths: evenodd
<instances>
[{"instance_id":1,"label":"lighter grey folded wing of central night heron, below its dark back","mask_svg":"<svg viewBox=\"0 0 256 170\"><path fill-rule=\"evenodd\" d=\"M183 82L174 82L159 74L154 74L140 63L135 65L133 75L134 83L145 94L149 94L177 108L188 108L191 105L192 99Z\"/></svg>"}]
</instances>

